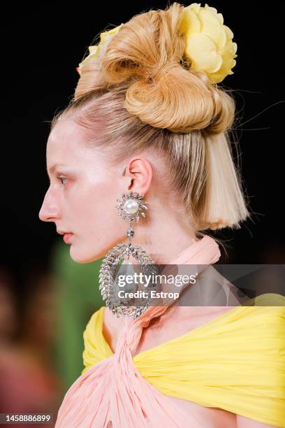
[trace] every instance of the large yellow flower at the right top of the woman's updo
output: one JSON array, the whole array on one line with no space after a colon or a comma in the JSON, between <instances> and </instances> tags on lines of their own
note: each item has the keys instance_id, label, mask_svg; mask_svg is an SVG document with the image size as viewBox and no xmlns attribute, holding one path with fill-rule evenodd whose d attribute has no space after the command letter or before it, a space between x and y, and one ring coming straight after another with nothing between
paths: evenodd
<instances>
[{"instance_id":1,"label":"large yellow flower at the right top of the woman's updo","mask_svg":"<svg viewBox=\"0 0 285 428\"><path fill-rule=\"evenodd\" d=\"M184 8L180 31L186 38L184 55L193 69L204 71L211 83L220 83L228 74L233 74L238 45L217 9L207 3L204 8L200 3L192 3Z\"/></svg>"}]
</instances>

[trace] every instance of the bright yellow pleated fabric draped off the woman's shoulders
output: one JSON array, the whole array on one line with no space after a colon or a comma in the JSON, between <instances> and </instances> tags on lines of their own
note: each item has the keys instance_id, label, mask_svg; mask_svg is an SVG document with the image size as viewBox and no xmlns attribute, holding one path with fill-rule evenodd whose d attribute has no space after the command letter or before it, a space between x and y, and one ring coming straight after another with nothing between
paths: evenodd
<instances>
[{"instance_id":1,"label":"bright yellow pleated fabric draped off the woman's shoulders","mask_svg":"<svg viewBox=\"0 0 285 428\"><path fill-rule=\"evenodd\" d=\"M285 428L285 297L262 294L251 305L140 352L133 364L163 394ZM83 334L82 373L113 355L104 309Z\"/></svg>"}]
</instances>

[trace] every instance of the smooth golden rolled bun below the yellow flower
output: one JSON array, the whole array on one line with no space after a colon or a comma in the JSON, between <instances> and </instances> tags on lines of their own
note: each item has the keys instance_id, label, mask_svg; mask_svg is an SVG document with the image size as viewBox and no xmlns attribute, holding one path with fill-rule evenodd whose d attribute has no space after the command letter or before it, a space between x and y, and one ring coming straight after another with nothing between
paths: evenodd
<instances>
[{"instance_id":1,"label":"smooth golden rolled bun below the yellow flower","mask_svg":"<svg viewBox=\"0 0 285 428\"><path fill-rule=\"evenodd\" d=\"M165 64L156 75L129 85L124 108L153 127L220 132L231 124L234 105L219 92L179 64Z\"/></svg>"}]
</instances>

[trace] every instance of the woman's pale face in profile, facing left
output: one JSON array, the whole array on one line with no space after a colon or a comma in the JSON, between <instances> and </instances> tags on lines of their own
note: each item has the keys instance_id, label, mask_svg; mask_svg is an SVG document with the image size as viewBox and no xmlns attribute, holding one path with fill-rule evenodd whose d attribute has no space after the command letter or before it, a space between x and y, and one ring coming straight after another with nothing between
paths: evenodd
<instances>
[{"instance_id":1,"label":"woman's pale face in profile, facing left","mask_svg":"<svg viewBox=\"0 0 285 428\"><path fill-rule=\"evenodd\" d=\"M117 215L116 204L128 189L124 164L111 166L103 150L85 147L80 130L72 120L61 120L50 133L50 187L39 217L54 222L58 232L70 232L71 258L88 263L126 241L128 224Z\"/></svg>"}]
</instances>

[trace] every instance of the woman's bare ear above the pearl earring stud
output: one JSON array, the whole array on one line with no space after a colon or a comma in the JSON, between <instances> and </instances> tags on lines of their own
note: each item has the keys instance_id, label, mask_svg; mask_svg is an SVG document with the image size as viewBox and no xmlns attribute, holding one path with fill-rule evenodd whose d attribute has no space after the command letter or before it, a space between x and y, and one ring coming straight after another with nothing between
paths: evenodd
<instances>
[{"instance_id":1,"label":"woman's bare ear above the pearl earring stud","mask_svg":"<svg viewBox=\"0 0 285 428\"><path fill-rule=\"evenodd\" d=\"M144 157L132 157L125 167L126 189L146 194L152 182L152 166Z\"/></svg>"}]
</instances>

